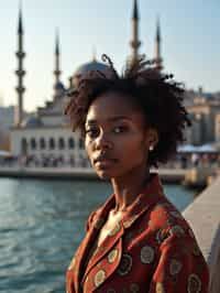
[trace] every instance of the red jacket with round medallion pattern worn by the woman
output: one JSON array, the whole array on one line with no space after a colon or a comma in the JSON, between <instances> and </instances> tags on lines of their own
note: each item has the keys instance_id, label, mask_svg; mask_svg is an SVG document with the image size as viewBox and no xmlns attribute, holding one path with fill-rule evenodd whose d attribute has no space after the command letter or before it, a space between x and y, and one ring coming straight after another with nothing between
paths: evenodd
<instances>
[{"instance_id":1,"label":"red jacket with round medallion pattern worn by the woman","mask_svg":"<svg viewBox=\"0 0 220 293\"><path fill-rule=\"evenodd\" d=\"M114 205L112 195L90 215L86 237L67 270L68 293L208 292L209 272L195 236L164 196L157 175L84 268Z\"/></svg>"}]
</instances>

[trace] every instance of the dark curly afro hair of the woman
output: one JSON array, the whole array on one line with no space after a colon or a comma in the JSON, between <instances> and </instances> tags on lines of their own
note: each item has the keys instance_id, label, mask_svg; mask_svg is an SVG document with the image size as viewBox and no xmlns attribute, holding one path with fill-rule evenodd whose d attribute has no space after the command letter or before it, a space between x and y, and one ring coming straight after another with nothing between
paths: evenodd
<instances>
[{"instance_id":1,"label":"dark curly afro hair of the woman","mask_svg":"<svg viewBox=\"0 0 220 293\"><path fill-rule=\"evenodd\" d=\"M183 105L184 87L172 75L165 75L144 56L128 64L121 76L111 59L106 72L88 72L81 77L76 89L69 91L70 100L65 113L70 117L73 131L80 130L85 137L85 122L92 101L107 91L117 91L133 99L141 107L147 126L158 132L158 143L148 154L148 165L166 163L176 153L177 144L184 142L184 129L190 126L188 113Z\"/></svg>"}]
</instances>

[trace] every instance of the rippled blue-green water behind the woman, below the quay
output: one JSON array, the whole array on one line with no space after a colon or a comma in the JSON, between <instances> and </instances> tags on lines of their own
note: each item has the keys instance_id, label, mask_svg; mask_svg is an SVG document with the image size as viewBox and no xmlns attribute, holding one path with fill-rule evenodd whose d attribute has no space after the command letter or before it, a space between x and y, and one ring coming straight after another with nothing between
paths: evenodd
<instances>
[{"instance_id":1,"label":"rippled blue-green water behind the woman, below the quay","mask_svg":"<svg viewBox=\"0 0 220 293\"><path fill-rule=\"evenodd\" d=\"M179 210L194 197L178 185L165 191ZM65 292L85 221L110 193L100 182L0 178L0 292Z\"/></svg>"}]
</instances>

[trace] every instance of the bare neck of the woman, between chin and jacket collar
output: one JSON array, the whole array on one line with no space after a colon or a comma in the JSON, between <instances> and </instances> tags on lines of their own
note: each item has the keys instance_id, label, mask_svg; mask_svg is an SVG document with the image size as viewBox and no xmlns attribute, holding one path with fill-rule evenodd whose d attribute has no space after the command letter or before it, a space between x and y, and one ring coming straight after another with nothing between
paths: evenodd
<instances>
[{"instance_id":1,"label":"bare neck of the woman, between chin and jacket collar","mask_svg":"<svg viewBox=\"0 0 220 293\"><path fill-rule=\"evenodd\" d=\"M150 170L131 172L127 177L112 178L111 184L116 196L116 210L124 211L136 199L150 180Z\"/></svg>"}]
</instances>

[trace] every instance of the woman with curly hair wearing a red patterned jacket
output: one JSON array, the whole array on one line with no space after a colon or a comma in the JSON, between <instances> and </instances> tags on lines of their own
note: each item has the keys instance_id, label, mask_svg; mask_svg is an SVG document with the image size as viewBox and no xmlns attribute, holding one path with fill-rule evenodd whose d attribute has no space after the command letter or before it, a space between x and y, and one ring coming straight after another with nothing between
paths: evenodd
<instances>
[{"instance_id":1,"label":"woman with curly hair wearing a red patterned jacket","mask_svg":"<svg viewBox=\"0 0 220 293\"><path fill-rule=\"evenodd\" d=\"M67 271L67 292L208 292L194 234L151 166L164 163L190 124L184 90L139 59L120 77L109 61L72 94L66 113L81 131L98 176L113 194L87 221Z\"/></svg>"}]
</instances>

